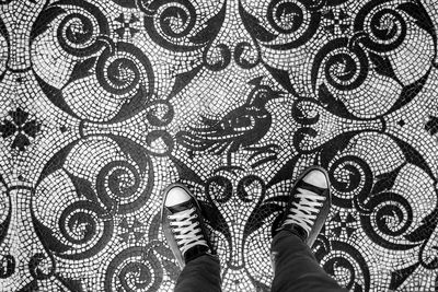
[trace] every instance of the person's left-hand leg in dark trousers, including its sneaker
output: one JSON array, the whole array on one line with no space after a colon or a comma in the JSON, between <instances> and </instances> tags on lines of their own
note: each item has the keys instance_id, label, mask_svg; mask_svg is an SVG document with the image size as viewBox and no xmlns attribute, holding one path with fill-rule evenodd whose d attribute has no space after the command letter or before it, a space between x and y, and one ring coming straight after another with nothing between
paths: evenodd
<instances>
[{"instance_id":1,"label":"person's left-hand leg in dark trousers, including its sneaker","mask_svg":"<svg viewBox=\"0 0 438 292\"><path fill-rule=\"evenodd\" d=\"M200 207L184 185L173 184L164 190L161 224L183 269L175 291L221 291L219 259L208 238Z\"/></svg>"}]
</instances>

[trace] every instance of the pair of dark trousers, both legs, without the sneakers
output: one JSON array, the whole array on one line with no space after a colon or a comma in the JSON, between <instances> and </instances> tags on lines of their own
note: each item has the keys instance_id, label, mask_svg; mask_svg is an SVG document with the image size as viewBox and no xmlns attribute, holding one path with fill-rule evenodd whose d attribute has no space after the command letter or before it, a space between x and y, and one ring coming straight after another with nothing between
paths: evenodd
<instances>
[{"instance_id":1,"label":"pair of dark trousers, both legs, without the sneakers","mask_svg":"<svg viewBox=\"0 0 438 292\"><path fill-rule=\"evenodd\" d=\"M273 292L346 292L341 289L314 258L312 250L289 231L273 240L275 277ZM220 264L215 256L204 255L184 267L175 285L176 292L221 291Z\"/></svg>"}]
</instances>

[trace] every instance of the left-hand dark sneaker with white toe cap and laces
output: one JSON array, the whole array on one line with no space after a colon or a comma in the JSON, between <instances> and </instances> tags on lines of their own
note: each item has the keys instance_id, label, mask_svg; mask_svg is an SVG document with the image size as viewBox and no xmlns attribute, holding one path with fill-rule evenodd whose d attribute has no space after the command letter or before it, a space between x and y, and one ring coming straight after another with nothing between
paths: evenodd
<instances>
[{"instance_id":1,"label":"left-hand dark sneaker with white toe cap and laces","mask_svg":"<svg viewBox=\"0 0 438 292\"><path fill-rule=\"evenodd\" d=\"M214 255L199 203L184 185L172 184L164 190L161 224L182 269L192 259Z\"/></svg>"}]
</instances>

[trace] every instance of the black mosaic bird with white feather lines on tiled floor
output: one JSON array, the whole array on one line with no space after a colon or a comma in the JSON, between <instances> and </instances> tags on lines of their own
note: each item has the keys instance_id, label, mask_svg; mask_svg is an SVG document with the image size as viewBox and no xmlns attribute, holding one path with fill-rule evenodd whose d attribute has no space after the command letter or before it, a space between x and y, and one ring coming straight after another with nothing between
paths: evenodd
<instances>
[{"instance_id":1,"label":"black mosaic bird with white feather lines on tiled floor","mask_svg":"<svg viewBox=\"0 0 438 292\"><path fill-rule=\"evenodd\" d=\"M268 85L262 85L263 78L256 78L249 82L254 89L247 96L246 102L230 110L221 119L203 117L201 127L191 127L188 131L176 135L176 141L189 149L189 153L207 151L221 155L227 153L227 167L231 165L232 153L239 150L253 151L249 161L254 161L251 166L276 159L276 144L256 145L269 131L272 115L266 109L266 104L275 98L283 97L283 92L274 91ZM263 155L262 160L257 156ZM239 167L238 167L239 168Z\"/></svg>"}]
</instances>

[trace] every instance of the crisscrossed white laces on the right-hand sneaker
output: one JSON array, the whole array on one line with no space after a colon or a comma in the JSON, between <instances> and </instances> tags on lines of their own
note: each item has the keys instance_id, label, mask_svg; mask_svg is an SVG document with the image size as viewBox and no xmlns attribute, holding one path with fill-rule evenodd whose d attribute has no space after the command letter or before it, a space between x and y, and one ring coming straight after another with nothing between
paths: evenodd
<instances>
[{"instance_id":1,"label":"crisscrossed white laces on the right-hand sneaker","mask_svg":"<svg viewBox=\"0 0 438 292\"><path fill-rule=\"evenodd\" d=\"M314 220L320 212L319 208L323 206L325 198L307 189L298 188L298 191L296 198L299 200L292 202L285 224L298 224L310 234Z\"/></svg>"}]
</instances>

